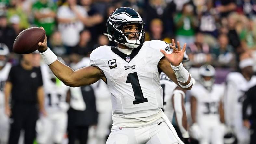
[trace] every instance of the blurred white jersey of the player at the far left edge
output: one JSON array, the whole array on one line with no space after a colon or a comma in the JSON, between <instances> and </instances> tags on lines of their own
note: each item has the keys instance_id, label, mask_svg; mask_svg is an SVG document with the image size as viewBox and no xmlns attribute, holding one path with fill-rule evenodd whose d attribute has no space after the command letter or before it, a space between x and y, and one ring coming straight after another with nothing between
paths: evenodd
<instances>
[{"instance_id":1,"label":"blurred white jersey of the player at the far left edge","mask_svg":"<svg viewBox=\"0 0 256 144\"><path fill-rule=\"evenodd\" d=\"M6 65L0 70L0 107L4 107L5 104L4 88L11 67L12 65L10 63L6 63Z\"/></svg>"}]
</instances>

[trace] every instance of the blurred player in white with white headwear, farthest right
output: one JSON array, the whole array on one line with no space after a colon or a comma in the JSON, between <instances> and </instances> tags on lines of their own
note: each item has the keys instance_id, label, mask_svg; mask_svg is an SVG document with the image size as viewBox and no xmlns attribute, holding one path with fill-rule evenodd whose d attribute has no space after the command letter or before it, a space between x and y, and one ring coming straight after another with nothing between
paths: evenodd
<instances>
[{"instance_id":1,"label":"blurred player in white with white headwear, farthest right","mask_svg":"<svg viewBox=\"0 0 256 144\"><path fill-rule=\"evenodd\" d=\"M254 62L250 58L241 60L240 72L231 72L227 76L227 91L224 99L225 119L238 140L238 144L250 142L249 130L243 126L242 106L245 92L256 84L256 76L253 75Z\"/></svg>"}]
</instances>

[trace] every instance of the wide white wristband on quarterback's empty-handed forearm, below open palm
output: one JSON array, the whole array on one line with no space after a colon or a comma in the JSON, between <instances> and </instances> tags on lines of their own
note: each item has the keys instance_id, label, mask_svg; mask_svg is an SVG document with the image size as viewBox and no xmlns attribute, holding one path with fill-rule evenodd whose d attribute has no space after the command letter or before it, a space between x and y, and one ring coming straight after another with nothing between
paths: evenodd
<instances>
[{"instance_id":1,"label":"wide white wristband on quarterback's empty-handed forearm, below open palm","mask_svg":"<svg viewBox=\"0 0 256 144\"><path fill-rule=\"evenodd\" d=\"M180 63L179 66L173 66L171 65L173 71L175 72L175 75L178 79L178 81L185 83L188 80L189 72L183 67L182 63Z\"/></svg>"}]
</instances>

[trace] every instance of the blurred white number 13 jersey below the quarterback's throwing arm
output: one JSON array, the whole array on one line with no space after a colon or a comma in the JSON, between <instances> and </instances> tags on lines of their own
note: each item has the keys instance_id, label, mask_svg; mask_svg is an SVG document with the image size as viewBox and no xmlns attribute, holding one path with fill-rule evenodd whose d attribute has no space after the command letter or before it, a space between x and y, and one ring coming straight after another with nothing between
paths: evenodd
<instances>
[{"instance_id":1,"label":"blurred white number 13 jersey below the quarterback's throwing arm","mask_svg":"<svg viewBox=\"0 0 256 144\"><path fill-rule=\"evenodd\" d=\"M45 109L48 113L67 111L68 104L66 103L66 95L69 89L63 82L58 80L56 83L51 81L49 67L41 66L44 94L45 94Z\"/></svg>"}]
</instances>

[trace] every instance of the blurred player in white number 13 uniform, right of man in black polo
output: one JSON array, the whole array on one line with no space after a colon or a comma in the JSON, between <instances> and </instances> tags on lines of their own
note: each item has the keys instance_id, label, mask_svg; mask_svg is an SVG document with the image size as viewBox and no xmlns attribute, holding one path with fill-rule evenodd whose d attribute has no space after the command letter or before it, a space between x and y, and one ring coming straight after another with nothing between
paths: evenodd
<instances>
[{"instance_id":1,"label":"blurred player in white number 13 uniform, right of man in black polo","mask_svg":"<svg viewBox=\"0 0 256 144\"><path fill-rule=\"evenodd\" d=\"M46 116L37 121L37 142L40 144L60 144L67 129L66 94L69 89L58 80L47 65L41 65L43 86L45 93Z\"/></svg>"}]
</instances>

